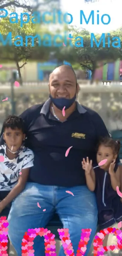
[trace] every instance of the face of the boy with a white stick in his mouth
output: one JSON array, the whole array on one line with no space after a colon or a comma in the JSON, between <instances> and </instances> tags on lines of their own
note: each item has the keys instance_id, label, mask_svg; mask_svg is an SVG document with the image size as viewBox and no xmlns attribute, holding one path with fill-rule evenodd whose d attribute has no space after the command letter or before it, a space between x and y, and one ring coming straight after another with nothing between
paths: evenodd
<instances>
[{"instance_id":1,"label":"face of the boy with a white stick in his mouth","mask_svg":"<svg viewBox=\"0 0 122 256\"><path fill-rule=\"evenodd\" d=\"M18 128L14 130L10 127L5 128L3 136L8 148L12 151L17 151L21 147L22 141L25 139L25 134Z\"/></svg>"}]
</instances>

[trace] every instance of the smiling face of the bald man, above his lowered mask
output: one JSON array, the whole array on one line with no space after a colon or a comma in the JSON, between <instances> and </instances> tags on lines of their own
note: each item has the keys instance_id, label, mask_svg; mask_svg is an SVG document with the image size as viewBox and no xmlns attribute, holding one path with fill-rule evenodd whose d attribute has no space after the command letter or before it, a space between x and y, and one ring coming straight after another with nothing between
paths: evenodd
<instances>
[{"instance_id":1,"label":"smiling face of the bald man, above his lowered mask","mask_svg":"<svg viewBox=\"0 0 122 256\"><path fill-rule=\"evenodd\" d=\"M53 98L72 99L78 93L76 77L68 68L57 68L49 78L49 90Z\"/></svg>"}]
</instances>

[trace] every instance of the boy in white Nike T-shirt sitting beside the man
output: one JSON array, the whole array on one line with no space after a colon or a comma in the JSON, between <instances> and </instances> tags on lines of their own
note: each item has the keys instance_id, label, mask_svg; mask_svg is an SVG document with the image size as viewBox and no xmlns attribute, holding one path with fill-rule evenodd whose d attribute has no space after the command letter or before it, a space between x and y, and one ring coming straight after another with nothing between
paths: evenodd
<instances>
[{"instance_id":1,"label":"boy in white Nike T-shirt sitting beside the man","mask_svg":"<svg viewBox=\"0 0 122 256\"><path fill-rule=\"evenodd\" d=\"M6 216L11 202L25 188L29 168L33 166L34 154L24 144L24 122L10 115L3 123L4 145L0 146L0 217ZM21 207L21 206L20 206ZM10 242L8 239L8 250Z\"/></svg>"}]
</instances>

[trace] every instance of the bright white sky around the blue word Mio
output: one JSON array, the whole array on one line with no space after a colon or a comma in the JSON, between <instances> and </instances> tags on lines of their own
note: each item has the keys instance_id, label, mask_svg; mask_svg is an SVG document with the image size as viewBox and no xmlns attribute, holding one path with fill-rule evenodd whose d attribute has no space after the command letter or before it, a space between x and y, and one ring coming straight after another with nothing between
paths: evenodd
<instances>
[{"instance_id":1,"label":"bright white sky around the blue word Mio","mask_svg":"<svg viewBox=\"0 0 122 256\"><path fill-rule=\"evenodd\" d=\"M111 30L116 30L122 26L122 0L99 0L97 3L85 3L84 0L61 0L61 7L65 12L71 13L73 16L73 22L71 25L75 25L78 28L85 28L91 33L107 33ZM80 25L80 10L84 11L86 19L88 19L91 10L94 10L94 25L90 19L86 24L83 19L83 24ZM97 10L99 10L100 23L97 25ZM109 14L111 21L108 25L104 25L101 22L101 16L103 14ZM107 22L108 18L104 17L104 22Z\"/></svg>"}]
</instances>

